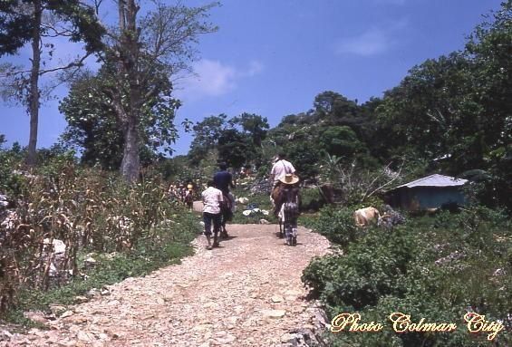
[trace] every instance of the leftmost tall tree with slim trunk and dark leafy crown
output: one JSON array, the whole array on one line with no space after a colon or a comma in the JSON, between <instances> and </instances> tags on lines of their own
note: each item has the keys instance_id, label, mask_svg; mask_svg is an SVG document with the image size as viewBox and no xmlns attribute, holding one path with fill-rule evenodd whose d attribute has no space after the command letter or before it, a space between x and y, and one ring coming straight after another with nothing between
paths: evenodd
<instances>
[{"instance_id":1,"label":"leftmost tall tree with slim trunk and dark leafy crown","mask_svg":"<svg viewBox=\"0 0 512 347\"><path fill-rule=\"evenodd\" d=\"M34 165L41 102L40 77L49 72L79 67L83 60L59 67L42 68L43 38L65 36L72 42L84 41L86 51L92 53L101 47L103 28L91 6L79 0L6 0L0 5L0 56L14 54L25 43L31 43L32 57L29 70L4 65L4 77L10 80L4 96L14 96L30 114L30 135L27 164ZM50 56L53 44L47 43Z\"/></svg>"}]
</instances>

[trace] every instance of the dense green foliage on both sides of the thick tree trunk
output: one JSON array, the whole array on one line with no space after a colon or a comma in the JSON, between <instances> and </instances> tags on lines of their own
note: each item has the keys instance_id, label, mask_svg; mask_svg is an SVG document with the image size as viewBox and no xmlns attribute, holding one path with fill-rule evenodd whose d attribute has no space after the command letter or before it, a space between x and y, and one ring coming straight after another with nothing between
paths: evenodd
<instances>
[{"instance_id":1,"label":"dense green foliage on both sides of the thick tree trunk","mask_svg":"<svg viewBox=\"0 0 512 347\"><path fill-rule=\"evenodd\" d=\"M84 72L75 78L69 95L59 105L59 111L68 122L63 142L82 149L83 163L91 166L98 163L103 169L119 169L124 150L124 129L116 114L120 106L104 92L105 88L117 84L111 76L111 64L105 63L96 74ZM171 145L178 137L173 121L179 101L170 96L172 86L163 74L163 67L154 69L159 72L155 72L141 91L145 94L158 91L152 92L140 107L139 152L145 165L162 152L171 154ZM122 107L128 108L128 95L121 95L121 100Z\"/></svg>"}]
</instances>

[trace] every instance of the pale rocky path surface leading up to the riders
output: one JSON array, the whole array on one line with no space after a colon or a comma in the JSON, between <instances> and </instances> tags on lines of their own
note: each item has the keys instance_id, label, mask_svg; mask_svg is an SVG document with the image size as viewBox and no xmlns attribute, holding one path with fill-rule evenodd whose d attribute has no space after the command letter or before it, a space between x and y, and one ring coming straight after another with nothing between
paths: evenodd
<instances>
[{"instance_id":1,"label":"pale rocky path surface leading up to the riders","mask_svg":"<svg viewBox=\"0 0 512 347\"><path fill-rule=\"evenodd\" d=\"M68 307L50 330L14 334L0 345L34 346L291 346L297 329L312 330L318 310L304 299L300 277L323 236L299 228L285 246L275 225L233 225L219 248L180 265L108 287L109 293ZM5 344L6 343L6 344Z\"/></svg>"}]
</instances>

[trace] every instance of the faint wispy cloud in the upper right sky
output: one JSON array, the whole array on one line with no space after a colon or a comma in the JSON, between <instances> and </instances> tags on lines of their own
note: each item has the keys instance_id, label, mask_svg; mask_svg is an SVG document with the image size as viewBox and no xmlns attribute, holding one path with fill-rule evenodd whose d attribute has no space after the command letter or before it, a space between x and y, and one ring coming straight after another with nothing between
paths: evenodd
<instances>
[{"instance_id":1,"label":"faint wispy cloud in the upper right sky","mask_svg":"<svg viewBox=\"0 0 512 347\"><path fill-rule=\"evenodd\" d=\"M373 27L362 34L345 37L335 44L334 53L351 53L361 56L385 53L398 43L394 38L394 34L405 28L406 25L407 22L402 20L391 24L385 29Z\"/></svg>"}]
</instances>

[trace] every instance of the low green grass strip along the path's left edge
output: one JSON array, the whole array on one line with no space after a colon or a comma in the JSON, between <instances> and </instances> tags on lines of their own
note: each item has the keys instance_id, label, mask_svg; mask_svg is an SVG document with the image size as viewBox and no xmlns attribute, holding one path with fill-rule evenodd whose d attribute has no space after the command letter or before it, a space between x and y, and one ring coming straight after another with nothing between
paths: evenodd
<instances>
[{"instance_id":1,"label":"low green grass strip along the path's left edge","mask_svg":"<svg viewBox=\"0 0 512 347\"><path fill-rule=\"evenodd\" d=\"M142 239L129 252L93 255L96 265L83 270L72 282L46 292L24 290L18 295L18 304L5 314L8 323L34 327L38 324L24 317L27 311L49 311L51 304L68 305L78 295L87 295L93 288L119 283L128 277L149 275L167 265L179 264L181 258L192 255L190 241L201 232L198 218L192 214L179 216L169 225L162 225L156 239ZM83 268L85 253L80 257Z\"/></svg>"}]
</instances>

